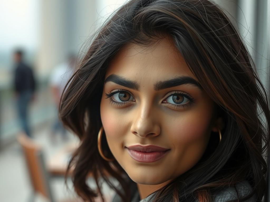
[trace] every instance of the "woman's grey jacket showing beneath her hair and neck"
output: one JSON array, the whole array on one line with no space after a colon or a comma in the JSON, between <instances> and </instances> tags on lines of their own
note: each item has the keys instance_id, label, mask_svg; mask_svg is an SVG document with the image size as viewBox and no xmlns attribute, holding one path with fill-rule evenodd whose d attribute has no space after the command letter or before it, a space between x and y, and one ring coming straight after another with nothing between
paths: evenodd
<instances>
[{"instance_id":1,"label":"woman's grey jacket showing beneath her hair and neck","mask_svg":"<svg viewBox=\"0 0 270 202\"><path fill-rule=\"evenodd\" d=\"M133 187L133 188L134 188L133 190L135 190L135 191L133 193L131 193L131 195L132 195L131 202L151 202L150 199L151 199L152 195L155 193L150 194L146 198L140 200L140 195L139 195L138 190L136 189L136 187ZM236 188L238 190L240 197L247 196L252 191L252 187L250 186L250 184L246 180L242 181L241 183L236 184ZM257 196L254 195L254 196L252 196L252 198L245 200L245 202L255 202L255 201L257 201L256 198L257 198ZM213 196L214 202L226 202L226 201L233 200L233 199L237 199L237 193L233 187L224 188L223 190L219 191L217 194L215 194ZM120 196L118 194L116 194L113 197L112 202L121 202Z\"/></svg>"}]
</instances>

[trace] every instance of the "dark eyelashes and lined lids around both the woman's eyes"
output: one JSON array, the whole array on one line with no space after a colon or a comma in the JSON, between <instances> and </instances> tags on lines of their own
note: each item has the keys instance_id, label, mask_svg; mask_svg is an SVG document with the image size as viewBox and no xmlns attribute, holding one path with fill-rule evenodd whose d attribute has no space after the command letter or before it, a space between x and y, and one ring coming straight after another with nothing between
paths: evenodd
<instances>
[{"instance_id":1,"label":"dark eyelashes and lined lids around both the woman's eyes","mask_svg":"<svg viewBox=\"0 0 270 202\"><path fill-rule=\"evenodd\" d=\"M112 96L113 96L114 94L116 94L116 93L129 93L129 92L126 91L126 90L117 89L117 91L115 91L115 92L112 92L112 93L110 93L110 92L105 93L106 96L107 96L106 99L107 99L107 98L110 98L110 102L112 102L112 104L114 104L114 105L117 105L117 107L121 107L121 106L123 106L126 102L130 102L130 101L126 101L126 102L117 102L117 101L113 100L113 99L112 99ZM188 102L187 104L183 104L183 105L181 105L181 104L177 105L177 104L171 104L171 103L165 102L166 105L173 106L174 109L178 109L179 107L183 107L183 109L185 109L185 107L190 107L190 106L194 103L194 98L193 98L193 97L191 97L191 96L188 95L187 93L180 92L180 91L175 91L174 93L171 93L169 96L166 97L166 99L168 99L168 97L174 96L174 95L184 96L184 97L186 97L186 98L189 100L189 102ZM166 100L166 99L165 99L165 100ZM164 102L164 101L163 101L163 102Z\"/></svg>"}]
</instances>

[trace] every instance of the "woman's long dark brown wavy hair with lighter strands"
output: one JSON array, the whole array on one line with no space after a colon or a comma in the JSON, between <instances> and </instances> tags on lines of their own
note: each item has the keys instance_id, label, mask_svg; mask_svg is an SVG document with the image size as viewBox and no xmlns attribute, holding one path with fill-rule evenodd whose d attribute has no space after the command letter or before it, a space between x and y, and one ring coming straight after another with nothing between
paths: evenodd
<instances>
[{"instance_id":1,"label":"woman's long dark brown wavy hair with lighter strands","mask_svg":"<svg viewBox=\"0 0 270 202\"><path fill-rule=\"evenodd\" d=\"M155 201L169 196L174 202L209 202L215 191L235 187L242 180L253 190L239 201L253 194L262 200L267 177L264 156L269 147L268 97L239 33L224 11L208 0L131 0L93 35L59 106L61 120L81 140L68 167L74 166L76 193L94 201L102 196L104 180L123 201L130 202L130 183L134 182L126 180L127 173L116 160L105 161L97 148L104 75L124 44L151 46L164 33L172 37L191 72L217 105L225 127L220 144L213 135L200 161L158 190ZM104 135L102 148L106 156L112 156ZM96 190L86 183L89 172L96 180Z\"/></svg>"}]
</instances>

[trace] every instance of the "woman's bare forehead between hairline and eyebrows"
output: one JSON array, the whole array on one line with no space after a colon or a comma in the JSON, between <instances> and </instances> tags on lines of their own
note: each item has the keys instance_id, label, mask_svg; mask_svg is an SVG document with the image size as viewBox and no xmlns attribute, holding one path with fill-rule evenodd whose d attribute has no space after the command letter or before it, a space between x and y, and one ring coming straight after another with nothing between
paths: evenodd
<instances>
[{"instance_id":1,"label":"woman's bare forehead between hairline and eyebrows","mask_svg":"<svg viewBox=\"0 0 270 202\"><path fill-rule=\"evenodd\" d=\"M105 79L111 74L123 75L138 82L155 82L178 75L196 79L170 37L150 47L133 43L124 45L111 60Z\"/></svg>"}]
</instances>

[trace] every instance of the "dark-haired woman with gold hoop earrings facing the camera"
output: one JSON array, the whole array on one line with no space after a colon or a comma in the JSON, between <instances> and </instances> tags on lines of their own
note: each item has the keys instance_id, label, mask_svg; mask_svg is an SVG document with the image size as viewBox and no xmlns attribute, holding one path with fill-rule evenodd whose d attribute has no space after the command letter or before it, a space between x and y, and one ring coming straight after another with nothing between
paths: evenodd
<instances>
[{"instance_id":1,"label":"dark-haired woman with gold hoop earrings facing the camera","mask_svg":"<svg viewBox=\"0 0 270 202\"><path fill-rule=\"evenodd\" d=\"M101 179L114 202L262 200L268 98L217 5L128 1L78 66L60 116L81 140L69 168L84 200Z\"/></svg>"}]
</instances>

